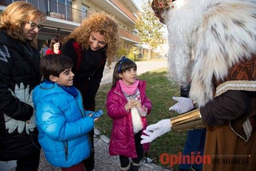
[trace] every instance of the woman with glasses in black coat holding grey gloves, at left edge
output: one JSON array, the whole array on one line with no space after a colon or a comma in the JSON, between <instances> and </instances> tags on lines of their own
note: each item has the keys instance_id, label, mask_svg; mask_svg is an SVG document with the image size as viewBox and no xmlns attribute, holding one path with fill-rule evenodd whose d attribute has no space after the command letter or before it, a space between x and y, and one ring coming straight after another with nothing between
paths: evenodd
<instances>
[{"instance_id":1,"label":"woman with glasses in black coat holding grey gloves, at left edge","mask_svg":"<svg viewBox=\"0 0 256 171\"><path fill-rule=\"evenodd\" d=\"M40 157L32 90L40 83L36 49L46 14L15 2L0 15L0 160L17 160L16 170L37 170Z\"/></svg>"}]
</instances>

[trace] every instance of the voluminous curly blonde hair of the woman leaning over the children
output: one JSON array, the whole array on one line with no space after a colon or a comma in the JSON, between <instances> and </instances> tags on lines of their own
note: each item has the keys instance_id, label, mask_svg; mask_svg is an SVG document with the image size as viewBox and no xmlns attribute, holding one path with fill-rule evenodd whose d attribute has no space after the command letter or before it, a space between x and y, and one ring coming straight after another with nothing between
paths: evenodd
<instances>
[{"instance_id":1,"label":"voluminous curly blonde hair of the woman leaning over the children","mask_svg":"<svg viewBox=\"0 0 256 171\"><path fill-rule=\"evenodd\" d=\"M90 42L89 37L91 32L99 32L105 36L105 52L108 61L108 67L110 67L111 62L114 61L115 55L119 49L119 27L115 22L114 18L106 14L105 12L94 12L89 18L83 20L80 27L77 27L69 36L67 36L64 41L69 39L75 39L78 44L83 48L89 49Z\"/></svg>"}]
</instances>

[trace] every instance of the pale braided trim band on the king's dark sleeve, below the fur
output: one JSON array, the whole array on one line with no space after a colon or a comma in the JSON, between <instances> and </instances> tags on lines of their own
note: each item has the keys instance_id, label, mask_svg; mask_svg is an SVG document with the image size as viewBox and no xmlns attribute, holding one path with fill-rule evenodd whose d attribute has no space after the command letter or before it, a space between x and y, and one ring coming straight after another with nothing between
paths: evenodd
<instances>
[{"instance_id":1,"label":"pale braided trim band on the king's dark sleeve, below the fur","mask_svg":"<svg viewBox=\"0 0 256 171\"><path fill-rule=\"evenodd\" d=\"M216 88L216 95L220 96L228 90L256 91L256 81L234 80L226 81Z\"/></svg>"}]
</instances>

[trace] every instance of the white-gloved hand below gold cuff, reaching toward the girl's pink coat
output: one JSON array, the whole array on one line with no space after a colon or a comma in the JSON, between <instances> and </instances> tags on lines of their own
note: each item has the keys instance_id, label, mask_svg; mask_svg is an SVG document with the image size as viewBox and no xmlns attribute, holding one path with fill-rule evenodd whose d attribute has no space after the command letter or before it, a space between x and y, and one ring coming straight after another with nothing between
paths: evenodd
<instances>
[{"instance_id":1,"label":"white-gloved hand below gold cuff, reaching toward the girl's pink coat","mask_svg":"<svg viewBox=\"0 0 256 171\"><path fill-rule=\"evenodd\" d=\"M146 130L143 131L148 136L142 135L141 136L142 140L140 141L140 143L144 144L144 143L151 142L157 137L160 137L161 135L169 132L170 130L172 130L170 125L170 119L163 119L155 124L148 125L146 127Z\"/></svg>"}]
</instances>

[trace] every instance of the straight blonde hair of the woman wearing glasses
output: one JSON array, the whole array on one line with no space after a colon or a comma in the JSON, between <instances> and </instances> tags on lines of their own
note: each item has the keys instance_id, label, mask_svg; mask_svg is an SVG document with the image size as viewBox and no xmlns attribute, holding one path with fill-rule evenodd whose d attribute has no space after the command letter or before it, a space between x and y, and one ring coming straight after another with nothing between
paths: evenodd
<instances>
[{"instance_id":1,"label":"straight blonde hair of the woman wearing glasses","mask_svg":"<svg viewBox=\"0 0 256 171\"><path fill-rule=\"evenodd\" d=\"M40 22L43 22L46 20L46 14L29 3L15 2L7 6L0 15L0 30L6 30L12 38L26 42L22 27L29 20L37 18ZM31 47L36 47L37 33L28 43Z\"/></svg>"}]
</instances>

